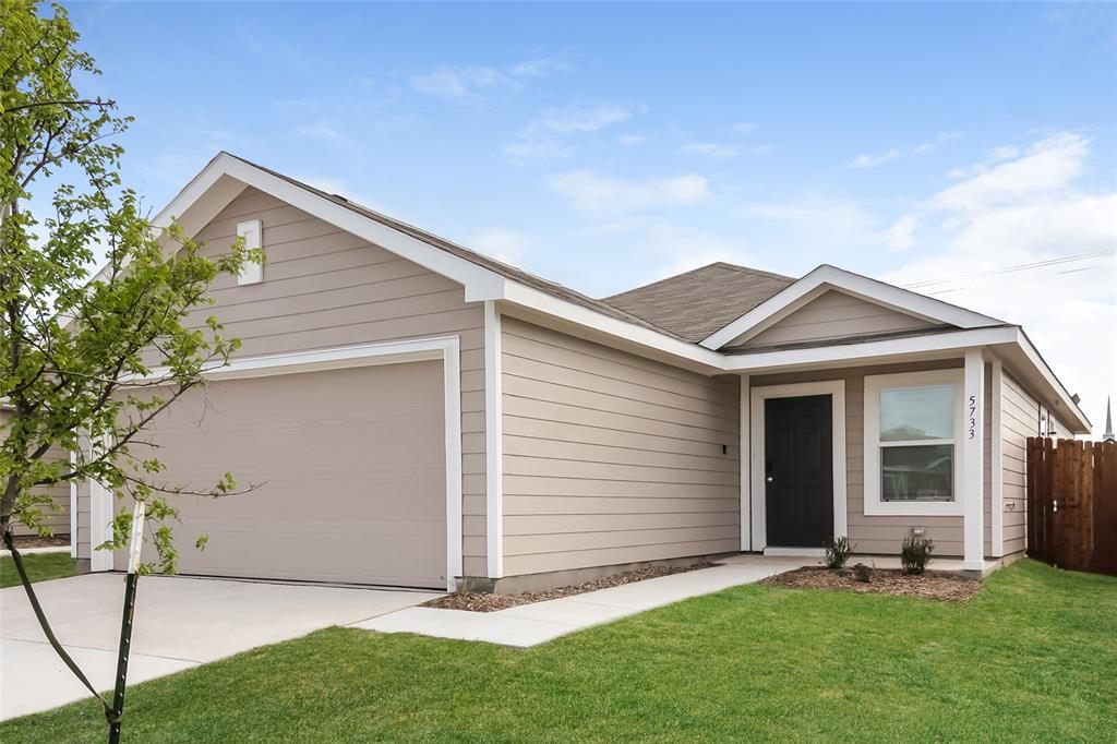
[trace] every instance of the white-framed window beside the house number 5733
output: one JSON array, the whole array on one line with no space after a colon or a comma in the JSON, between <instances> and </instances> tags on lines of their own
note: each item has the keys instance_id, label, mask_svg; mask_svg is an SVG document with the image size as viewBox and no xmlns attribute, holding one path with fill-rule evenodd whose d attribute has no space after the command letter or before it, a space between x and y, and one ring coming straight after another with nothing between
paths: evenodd
<instances>
[{"instance_id":1,"label":"white-framed window beside the house number 5733","mask_svg":"<svg viewBox=\"0 0 1117 744\"><path fill-rule=\"evenodd\" d=\"M961 515L961 369L865 378L865 513Z\"/></svg>"}]
</instances>

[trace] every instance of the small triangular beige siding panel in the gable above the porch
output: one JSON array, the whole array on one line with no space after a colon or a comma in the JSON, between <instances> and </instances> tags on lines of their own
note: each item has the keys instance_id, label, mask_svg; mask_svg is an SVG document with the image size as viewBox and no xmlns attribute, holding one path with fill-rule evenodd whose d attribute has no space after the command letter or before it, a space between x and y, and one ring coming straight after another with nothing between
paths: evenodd
<instances>
[{"instance_id":1,"label":"small triangular beige siding panel in the gable above the porch","mask_svg":"<svg viewBox=\"0 0 1117 744\"><path fill-rule=\"evenodd\" d=\"M738 336L728 345L770 346L930 326L923 318L831 289L755 336L746 341Z\"/></svg>"}]
</instances>

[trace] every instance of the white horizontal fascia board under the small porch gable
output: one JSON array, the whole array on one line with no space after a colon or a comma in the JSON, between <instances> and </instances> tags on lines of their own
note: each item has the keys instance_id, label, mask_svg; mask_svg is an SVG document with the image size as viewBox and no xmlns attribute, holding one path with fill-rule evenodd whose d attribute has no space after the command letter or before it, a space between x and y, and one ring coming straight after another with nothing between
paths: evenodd
<instances>
[{"instance_id":1,"label":"white horizontal fascia board under the small porch gable","mask_svg":"<svg viewBox=\"0 0 1117 744\"><path fill-rule=\"evenodd\" d=\"M752 354L731 354L725 356L725 370L727 372L760 372L802 364L848 362L876 356L918 354L922 352L1015 343L1018 333L1019 328L1016 326L996 326L992 328L973 328L970 331L908 336L905 338L889 338L887 341L866 341L841 346L813 346L810 349L757 352Z\"/></svg>"}]
</instances>

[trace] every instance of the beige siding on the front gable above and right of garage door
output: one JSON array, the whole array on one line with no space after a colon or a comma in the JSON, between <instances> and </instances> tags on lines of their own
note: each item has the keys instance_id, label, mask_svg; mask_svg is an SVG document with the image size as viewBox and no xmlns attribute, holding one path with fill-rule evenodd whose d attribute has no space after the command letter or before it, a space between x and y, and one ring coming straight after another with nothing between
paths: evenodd
<instances>
[{"instance_id":1,"label":"beige siding on the front gable above and right of garage door","mask_svg":"<svg viewBox=\"0 0 1117 744\"><path fill-rule=\"evenodd\" d=\"M259 219L264 282L213 284L209 315L242 342L238 356L456 335L461 344L462 554L466 575L486 575L485 332L480 303L461 285L248 188L197 236L204 255L228 251L237 223ZM236 476L236 474L233 474Z\"/></svg>"}]
</instances>

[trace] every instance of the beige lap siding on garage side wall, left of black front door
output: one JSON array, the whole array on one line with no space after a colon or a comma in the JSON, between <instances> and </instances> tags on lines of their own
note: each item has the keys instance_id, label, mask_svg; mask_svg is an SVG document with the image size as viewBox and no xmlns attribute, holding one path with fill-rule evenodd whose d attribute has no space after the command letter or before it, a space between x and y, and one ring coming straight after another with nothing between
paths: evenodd
<instances>
[{"instance_id":1,"label":"beige lap siding on garage side wall, left of black front door","mask_svg":"<svg viewBox=\"0 0 1117 744\"><path fill-rule=\"evenodd\" d=\"M739 550L736 376L502 326L506 575Z\"/></svg>"}]
</instances>

